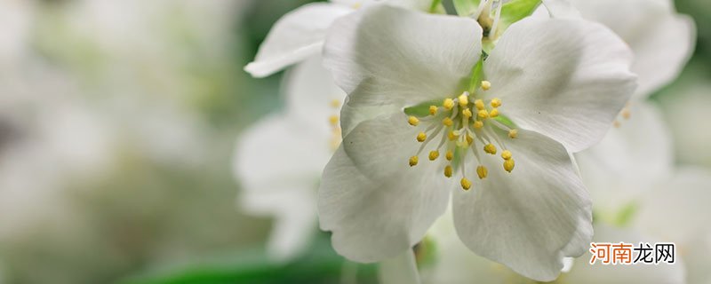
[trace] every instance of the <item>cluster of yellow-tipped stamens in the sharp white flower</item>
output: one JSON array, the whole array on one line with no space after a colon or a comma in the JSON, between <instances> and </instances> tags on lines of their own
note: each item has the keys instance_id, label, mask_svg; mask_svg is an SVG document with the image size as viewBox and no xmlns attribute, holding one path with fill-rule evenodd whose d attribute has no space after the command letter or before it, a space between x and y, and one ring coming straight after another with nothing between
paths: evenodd
<instances>
[{"instance_id":1,"label":"cluster of yellow-tipped stamens in the sharp white flower","mask_svg":"<svg viewBox=\"0 0 711 284\"><path fill-rule=\"evenodd\" d=\"M491 83L481 82L481 89L488 91ZM427 115L410 115L407 122L411 126L421 129L415 140L421 143L417 154L410 157L410 166L414 167L419 162L419 155L427 148L433 140L439 138L439 142L432 147L427 154L429 161L435 161L440 157L440 151L444 152L444 159L447 165L444 167L444 177L451 177L454 166L458 166L461 171L460 184L464 190L471 188L472 183L467 178L465 164L469 152L474 154L478 163L476 175L483 179L488 175L489 170L483 166L481 155L497 154L501 149L503 168L507 172L514 170L515 162L511 151L507 150L506 144L495 133L496 130L508 132L508 138L516 138L517 131L509 128L505 123L499 122L499 106L501 99L477 99L474 95L465 91L456 98L443 99L441 106L429 106Z\"/></svg>"}]
</instances>

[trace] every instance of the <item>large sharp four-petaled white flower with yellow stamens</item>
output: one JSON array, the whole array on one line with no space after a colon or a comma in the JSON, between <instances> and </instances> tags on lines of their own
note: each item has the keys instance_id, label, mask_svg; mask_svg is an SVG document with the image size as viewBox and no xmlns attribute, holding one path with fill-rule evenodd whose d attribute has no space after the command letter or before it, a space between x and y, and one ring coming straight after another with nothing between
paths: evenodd
<instances>
[{"instance_id":1,"label":"large sharp four-petaled white flower with yellow stamens","mask_svg":"<svg viewBox=\"0 0 711 284\"><path fill-rule=\"evenodd\" d=\"M475 20L379 5L334 25L324 59L348 99L318 206L341 255L410 248L455 184L454 223L475 253L553 280L563 256L586 251L590 202L566 147L602 138L634 90L624 43L583 20L522 20L483 63L485 81L470 83Z\"/></svg>"}]
</instances>

